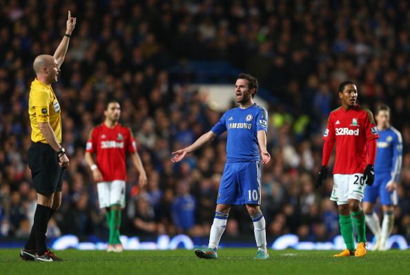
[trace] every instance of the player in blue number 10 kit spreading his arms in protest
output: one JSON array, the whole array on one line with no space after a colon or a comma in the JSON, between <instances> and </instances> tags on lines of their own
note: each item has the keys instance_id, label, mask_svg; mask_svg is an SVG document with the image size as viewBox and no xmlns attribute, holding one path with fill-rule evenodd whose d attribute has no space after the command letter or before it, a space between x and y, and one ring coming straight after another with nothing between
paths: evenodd
<instances>
[{"instance_id":1,"label":"player in blue number 10 kit spreading his arms in protest","mask_svg":"<svg viewBox=\"0 0 410 275\"><path fill-rule=\"evenodd\" d=\"M191 153L227 131L226 164L219 191L215 218L211 227L209 244L205 249L195 249L199 258L217 258L219 240L224 233L231 205L246 205L253 221L257 254L255 259L266 260L266 222L260 211L262 164L271 160L266 150L268 114L253 102L257 93L257 79L241 73L235 82L235 99L239 107L228 110L211 131L193 144L173 152L173 162L179 162ZM261 160L262 158L262 160Z\"/></svg>"}]
</instances>

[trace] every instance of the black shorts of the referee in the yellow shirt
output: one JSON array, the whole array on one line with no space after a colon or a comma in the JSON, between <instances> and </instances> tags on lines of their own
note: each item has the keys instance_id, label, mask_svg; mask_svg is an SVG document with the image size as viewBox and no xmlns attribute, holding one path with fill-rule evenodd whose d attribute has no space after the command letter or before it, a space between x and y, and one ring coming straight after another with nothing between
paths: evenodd
<instances>
[{"instance_id":1,"label":"black shorts of the referee in the yellow shirt","mask_svg":"<svg viewBox=\"0 0 410 275\"><path fill-rule=\"evenodd\" d=\"M59 166L57 152L50 145L33 143L28 149L28 167L37 193L49 195L61 191L64 170Z\"/></svg>"}]
</instances>

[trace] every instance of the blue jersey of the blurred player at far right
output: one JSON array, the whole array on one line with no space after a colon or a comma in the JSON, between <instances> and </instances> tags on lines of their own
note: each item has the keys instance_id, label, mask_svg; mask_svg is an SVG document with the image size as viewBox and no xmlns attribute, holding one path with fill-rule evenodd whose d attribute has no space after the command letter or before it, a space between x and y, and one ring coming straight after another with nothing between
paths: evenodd
<instances>
[{"instance_id":1,"label":"blue jersey of the blurred player at far right","mask_svg":"<svg viewBox=\"0 0 410 275\"><path fill-rule=\"evenodd\" d=\"M394 127L379 131L379 135L375 173L390 172L391 178L397 182L402 168L402 135Z\"/></svg>"}]
</instances>

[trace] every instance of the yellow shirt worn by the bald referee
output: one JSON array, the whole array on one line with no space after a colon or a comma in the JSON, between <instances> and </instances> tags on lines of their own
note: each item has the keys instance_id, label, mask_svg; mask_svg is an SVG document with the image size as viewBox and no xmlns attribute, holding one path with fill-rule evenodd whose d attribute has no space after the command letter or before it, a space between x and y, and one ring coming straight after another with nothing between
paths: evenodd
<instances>
[{"instance_id":1,"label":"yellow shirt worn by the bald referee","mask_svg":"<svg viewBox=\"0 0 410 275\"><path fill-rule=\"evenodd\" d=\"M47 143L39 129L39 122L49 122L58 142L61 143L60 104L51 85L39 82L37 78L31 82L28 115L30 115L32 142Z\"/></svg>"}]
</instances>

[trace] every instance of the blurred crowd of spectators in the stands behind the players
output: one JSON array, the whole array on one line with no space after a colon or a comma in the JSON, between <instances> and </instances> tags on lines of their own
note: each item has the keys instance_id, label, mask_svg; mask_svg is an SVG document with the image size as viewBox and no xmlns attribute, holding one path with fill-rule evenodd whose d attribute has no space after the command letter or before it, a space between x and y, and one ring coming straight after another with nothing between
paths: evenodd
<instances>
[{"instance_id":1,"label":"blurred crowd of spectators in the stands behind the players","mask_svg":"<svg viewBox=\"0 0 410 275\"><path fill-rule=\"evenodd\" d=\"M222 113L192 88L191 79L173 79L167 69L221 60L255 75L281 102L269 106L272 160L262 182L268 241L286 233L325 241L339 233L331 177L322 189L313 182L326 117L338 106L338 84L346 79L358 83L359 101L372 111L389 104L392 124L402 133L393 234L410 240L410 7L400 0L1 1L0 236L30 232L36 205L27 165L32 61L54 53L67 10L77 26L53 87L70 169L49 237L107 237L84 149L112 98L121 103L121 123L133 130L148 176L140 189L129 165L121 233L208 236L226 136L180 164L170 162L170 152L209 131ZM244 207L233 207L224 236L246 234L253 234L251 219Z\"/></svg>"}]
</instances>

